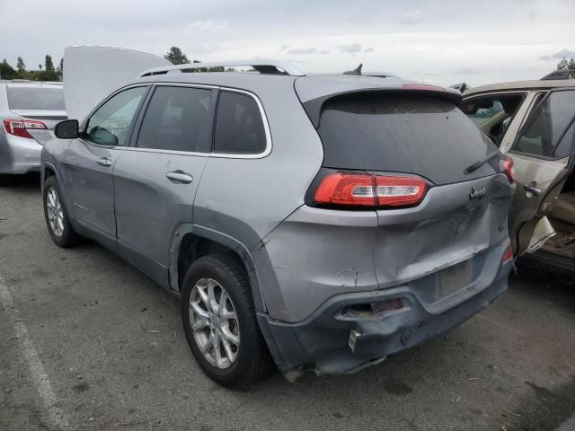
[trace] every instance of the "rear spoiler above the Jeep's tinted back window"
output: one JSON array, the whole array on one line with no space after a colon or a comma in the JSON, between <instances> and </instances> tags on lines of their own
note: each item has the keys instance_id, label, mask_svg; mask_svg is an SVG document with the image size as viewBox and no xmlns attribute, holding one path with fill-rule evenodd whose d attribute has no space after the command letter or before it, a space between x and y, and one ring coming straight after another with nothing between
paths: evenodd
<instances>
[{"instance_id":1,"label":"rear spoiler above the Jeep's tinted back window","mask_svg":"<svg viewBox=\"0 0 575 431\"><path fill-rule=\"evenodd\" d=\"M443 87L437 87L435 85L425 85L425 84L403 84L401 88L372 88L372 89L360 89L360 90L349 90L346 92L334 92L322 97L312 99L310 101L303 102L304 110L307 113L309 119L311 119L314 124L314 128L320 127L320 117L322 114L323 103L326 101L347 96L349 94L362 94L362 93L373 93L373 92L385 92L386 94L418 94L422 96L433 96L439 99L444 99L447 101L453 101L457 105L462 101L463 95L461 92L456 90L447 89Z\"/></svg>"}]
</instances>

